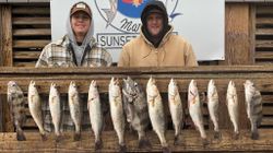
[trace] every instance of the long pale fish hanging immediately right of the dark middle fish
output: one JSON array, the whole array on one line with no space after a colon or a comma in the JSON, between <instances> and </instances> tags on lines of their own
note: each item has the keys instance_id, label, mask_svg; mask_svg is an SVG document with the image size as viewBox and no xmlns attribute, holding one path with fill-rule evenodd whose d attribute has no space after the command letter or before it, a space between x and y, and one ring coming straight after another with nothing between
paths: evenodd
<instances>
[{"instance_id":1,"label":"long pale fish hanging immediately right of the dark middle fish","mask_svg":"<svg viewBox=\"0 0 273 153\"><path fill-rule=\"evenodd\" d=\"M153 127L153 130L159 138L163 152L169 152L168 143L165 138L165 113L162 102L162 96L156 86L155 79L152 76L146 84L147 108L149 116Z\"/></svg>"}]
</instances>

